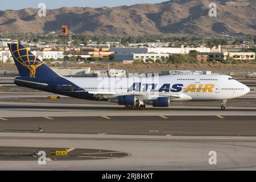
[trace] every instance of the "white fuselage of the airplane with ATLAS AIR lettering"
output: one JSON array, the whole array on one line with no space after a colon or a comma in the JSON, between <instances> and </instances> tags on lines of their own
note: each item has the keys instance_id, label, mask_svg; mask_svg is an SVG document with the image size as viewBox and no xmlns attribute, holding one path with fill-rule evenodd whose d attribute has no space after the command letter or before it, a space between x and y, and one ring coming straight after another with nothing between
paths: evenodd
<instances>
[{"instance_id":1,"label":"white fuselage of the airplane with ATLAS AIR lettering","mask_svg":"<svg viewBox=\"0 0 256 182\"><path fill-rule=\"evenodd\" d=\"M171 101L228 100L250 92L246 85L225 75L65 78L89 93L108 96L134 94L141 100L164 96L174 96Z\"/></svg>"}]
</instances>

